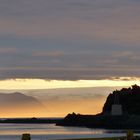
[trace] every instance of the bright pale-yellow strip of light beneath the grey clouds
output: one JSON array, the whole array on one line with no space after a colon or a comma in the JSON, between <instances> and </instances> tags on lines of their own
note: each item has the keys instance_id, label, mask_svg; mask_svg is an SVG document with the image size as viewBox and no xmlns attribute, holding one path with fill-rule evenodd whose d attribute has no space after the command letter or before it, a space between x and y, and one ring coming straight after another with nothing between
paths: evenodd
<instances>
[{"instance_id":1,"label":"bright pale-yellow strip of light beneath the grey clouds","mask_svg":"<svg viewBox=\"0 0 140 140\"><path fill-rule=\"evenodd\" d=\"M117 87L140 85L139 78L105 79L105 80L44 80L44 79L7 79L0 81L0 89L55 89L79 87Z\"/></svg>"}]
</instances>

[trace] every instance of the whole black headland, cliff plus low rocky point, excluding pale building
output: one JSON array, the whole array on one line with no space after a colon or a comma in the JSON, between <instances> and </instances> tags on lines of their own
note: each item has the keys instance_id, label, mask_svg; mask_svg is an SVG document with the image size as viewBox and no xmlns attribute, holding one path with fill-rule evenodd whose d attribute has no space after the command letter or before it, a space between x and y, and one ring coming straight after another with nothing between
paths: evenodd
<instances>
[{"instance_id":1,"label":"whole black headland, cliff plus low rocky point, excluding pale building","mask_svg":"<svg viewBox=\"0 0 140 140\"><path fill-rule=\"evenodd\" d=\"M122 115L111 115L113 104L122 105ZM109 94L100 114L68 114L57 125L114 129L140 128L140 87L134 85Z\"/></svg>"}]
</instances>

